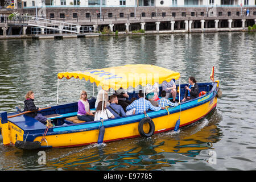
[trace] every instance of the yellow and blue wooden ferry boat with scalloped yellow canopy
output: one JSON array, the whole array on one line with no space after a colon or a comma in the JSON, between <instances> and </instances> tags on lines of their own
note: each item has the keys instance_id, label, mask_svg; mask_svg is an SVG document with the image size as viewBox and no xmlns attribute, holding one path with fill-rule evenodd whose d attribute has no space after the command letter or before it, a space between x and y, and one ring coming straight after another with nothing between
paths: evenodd
<instances>
[{"instance_id":1,"label":"yellow and blue wooden ferry boat with scalloped yellow canopy","mask_svg":"<svg viewBox=\"0 0 256 182\"><path fill-rule=\"evenodd\" d=\"M179 105L166 107L159 111L146 111L126 117L106 119L103 121L83 122L77 119L77 102L59 105L59 80L76 78L90 81L104 90L131 89L129 99L138 98L138 88L144 89L147 84L159 85L163 81L177 81ZM212 79L212 77L210 77ZM1 112L1 134L3 145L15 146L22 150L34 150L49 147L76 147L94 143L106 143L115 140L135 137L151 137L152 135L175 130L199 121L217 106L220 93L219 81L197 83L203 96L193 100L180 102L187 84L180 84L180 73L170 69L147 64L128 64L119 67L90 69L77 72L61 72L57 75L57 104L38 111L52 120L53 127L43 125L34 118L18 111ZM186 79L187 80L187 79ZM162 86L159 86L159 96ZM96 98L88 100L90 110L94 110ZM179 122L178 122L179 121ZM177 131L177 130L175 130Z\"/></svg>"}]
</instances>

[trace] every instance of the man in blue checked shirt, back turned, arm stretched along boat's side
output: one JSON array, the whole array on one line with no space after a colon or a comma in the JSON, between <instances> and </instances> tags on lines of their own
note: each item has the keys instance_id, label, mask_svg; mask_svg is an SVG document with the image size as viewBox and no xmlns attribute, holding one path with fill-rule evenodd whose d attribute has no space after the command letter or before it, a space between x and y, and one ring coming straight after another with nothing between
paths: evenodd
<instances>
[{"instance_id":1,"label":"man in blue checked shirt, back turned, arm stretched along boat's side","mask_svg":"<svg viewBox=\"0 0 256 182\"><path fill-rule=\"evenodd\" d=\"M158 111L160 109L165 109L164 107L155 107L153 106L150 101L146 100L144 98L144 95L142 93L142 90L139 90L139 99L135 100L133 103L131 103L129 106L126 107L126 110L131 110L135 108L135 114L144 113L144 111L147 111L148 109Z\"/></svg>"}]
</instances>

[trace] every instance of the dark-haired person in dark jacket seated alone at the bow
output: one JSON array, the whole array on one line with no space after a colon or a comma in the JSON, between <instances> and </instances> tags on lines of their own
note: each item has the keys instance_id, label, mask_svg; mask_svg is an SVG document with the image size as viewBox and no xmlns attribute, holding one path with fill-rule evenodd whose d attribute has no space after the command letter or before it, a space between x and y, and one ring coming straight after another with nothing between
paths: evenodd
<instances>
[{"instance_id":1,"label":"dark-haired person in dark jacket seated alone at the bow","mask_svg":"<svg viewBox=\"0 0 256 182\"><path fill-rule=\"evenodd\" d=\"M199 86L196 83L196 79L194 77L188 78L188 86L185 86L185 94L183 100L181 102L185 102L198 97L199 94Z\"/></svg>"}]
</instances>

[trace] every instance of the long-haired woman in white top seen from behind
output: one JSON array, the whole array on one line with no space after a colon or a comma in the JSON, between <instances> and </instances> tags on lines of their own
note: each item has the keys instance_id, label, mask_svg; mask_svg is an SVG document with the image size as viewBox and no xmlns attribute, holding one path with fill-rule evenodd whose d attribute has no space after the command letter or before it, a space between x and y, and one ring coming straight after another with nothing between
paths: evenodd
<instances>
[{"instance_id":1,"label":"long-haired woman in white top seen from behind","mask_svg":"<svg viewBox=\"0 0 256 182\"><path fill-rule=\"evenodd\" d=\"M109 118L115 118L114 114L110 112L110 110L106 109L106 102L100 101L98 102L98 106L94 115L94 121L99 121L101 119L109 119ZM102 105L104 105L103 111L102 111Z\"/></svg>"}]
</instances>

